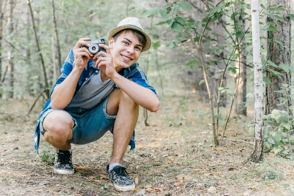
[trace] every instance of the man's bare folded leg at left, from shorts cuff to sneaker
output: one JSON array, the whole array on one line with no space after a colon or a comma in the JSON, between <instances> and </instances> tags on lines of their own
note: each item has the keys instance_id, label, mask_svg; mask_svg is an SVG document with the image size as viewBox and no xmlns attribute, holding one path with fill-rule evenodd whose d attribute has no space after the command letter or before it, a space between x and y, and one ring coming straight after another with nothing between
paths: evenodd
<instances>
[{"instance_id":1,"label":"man's bare folded leg at left, from shorts cuff to sneaker","mask_svg":"<svg viewBox=\"0 0 294 196\"><path fill-rule=\"evenodd\" d=\"M73 125L73 118L67 112L50 112L43 122L44 138L57 149L69 150L70 140L73 137Z\"/></svg>"}]
</instances>

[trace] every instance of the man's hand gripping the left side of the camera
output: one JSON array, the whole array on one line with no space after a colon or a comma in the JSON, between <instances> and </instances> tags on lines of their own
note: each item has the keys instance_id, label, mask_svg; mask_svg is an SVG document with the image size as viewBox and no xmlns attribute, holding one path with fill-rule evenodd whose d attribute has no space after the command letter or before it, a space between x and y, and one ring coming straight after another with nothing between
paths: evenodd
<instances>
[{"instance_id":1,"label":"man's hand gripping the left side of the camera","mask_svg":"<svg viewBox=\"0 0 294 196\"><path fill-rule=\"evenodd\" d=\"M81 47L82 45L87 47L90 46L90 44L86 42L87 40L90 40L90 38L81 38L73 47L74 63L78 70L83 70L89 59L94 56L88 49Z\"/></svg>"}]
</instances>

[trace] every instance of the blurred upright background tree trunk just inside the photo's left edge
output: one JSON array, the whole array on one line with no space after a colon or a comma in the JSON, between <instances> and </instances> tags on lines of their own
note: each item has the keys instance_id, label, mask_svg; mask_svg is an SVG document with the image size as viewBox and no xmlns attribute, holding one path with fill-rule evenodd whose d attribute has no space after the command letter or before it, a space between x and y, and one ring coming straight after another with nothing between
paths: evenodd
<instances>
[{"instance_id":1,"label":"blurred upright background tree trunk just inside the photo's left edge","mask_svg":"<svg viewBox=\"0 0 294 196\"><path fill-rule=\"evenodd\" d=\"M12 23L12 17L13 17L13 6L14 2L13 0L9 0L9 15L8 15L8 20L7 20L7 25L8 25L8 34L12 34L13 33L13 23ZM10 42L10 39L9 39ZM7 51L7 56L8 56L8 63L7 63L7 72L8 72L8 77L7 77L7 81L8 81L8 93L7 93L7 97L8 98L13 98L13 70L14 70L14 65L13 65L13 59L11 58L11 55L13 53L13 48L11 47L10 50Z\"/></svg>"}]
</instances>

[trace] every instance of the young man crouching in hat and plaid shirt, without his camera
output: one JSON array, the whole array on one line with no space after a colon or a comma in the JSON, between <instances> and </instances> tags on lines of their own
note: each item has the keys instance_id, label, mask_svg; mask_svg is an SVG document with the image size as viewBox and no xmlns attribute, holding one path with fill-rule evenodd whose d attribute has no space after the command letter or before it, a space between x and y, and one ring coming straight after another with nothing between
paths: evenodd
<instances>
[{"instance_id":1,"label":"young man crouching in hat and plaid shirt, without his camera","mask_svg":"<svg viewBox=\"0 0 294 196\"><path fill-rule=\"evenodd\" d=\"M35 148L40 132L57 148L54 172L73 174L71 144L98 140L108 130L114 137L112 158L107 173L114 187L122 191L135 188L122 166L127 145L135 147L134 128L139 105L151 112L159 108L156 91L138 66L141 52L151 40L137 18L125 18L107 34L109 46L93 55L82 38L71 49L61 67L50 98L36 125Z\"/></svg>"}]
</instances>

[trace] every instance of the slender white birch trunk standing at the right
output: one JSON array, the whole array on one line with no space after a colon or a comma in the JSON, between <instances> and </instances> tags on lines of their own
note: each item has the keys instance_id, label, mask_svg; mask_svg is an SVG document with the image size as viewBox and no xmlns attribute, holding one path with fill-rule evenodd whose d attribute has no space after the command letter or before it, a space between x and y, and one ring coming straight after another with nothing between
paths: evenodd
<instances>
[{"instance_id":1,"label":"slender white birch trunk standing at the right","mask_svg":"<svg viewBox=\"0 0 294 196\"><path fill-rule=\"evenodd\" d=\"M251 0L252 49L254 67L254 147L250 160L259 162L263 159L264 121L263 121L263 78L260 54L258 0Z\"/></svg>"}]
</instances>

